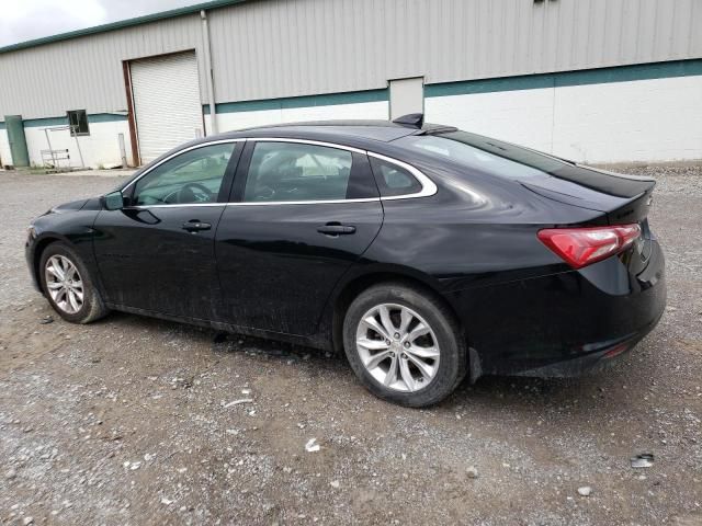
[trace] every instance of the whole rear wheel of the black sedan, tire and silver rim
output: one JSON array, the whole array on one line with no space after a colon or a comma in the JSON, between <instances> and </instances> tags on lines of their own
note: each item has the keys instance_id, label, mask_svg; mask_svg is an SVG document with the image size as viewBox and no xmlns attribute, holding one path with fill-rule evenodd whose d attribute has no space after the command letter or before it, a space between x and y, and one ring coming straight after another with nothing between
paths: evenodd
<instances>
[{"instance_id":1,"label":"whole rear wheel of the black sedan, tire and silver rim","mask_svg":"<svg viewBox=\"0 0 702 526\"><path fill-rule=\"evenodd\" d=\"M466 346L452 312L405 284L364 290L343 323L347 357L377 397L420 408L448 397L466 374Z\"/></svg>"}]
</instances>

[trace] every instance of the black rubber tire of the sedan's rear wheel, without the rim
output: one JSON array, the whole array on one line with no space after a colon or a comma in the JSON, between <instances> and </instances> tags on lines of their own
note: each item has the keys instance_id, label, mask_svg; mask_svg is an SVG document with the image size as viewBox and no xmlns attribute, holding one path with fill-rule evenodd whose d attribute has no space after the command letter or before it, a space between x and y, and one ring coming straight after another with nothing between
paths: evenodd
<instances>
[{"instance_id":1,"label":"black rubber tire of the sedan's rear wheel, without the rim","mask_svg":"<svg viewBox=\"0 0 702 526\"><path fill-rule=\"evenodd\" d=\"M361 318L376 306L405 306L431 327L440 350L435 376L415 391L385 387L363 365L356 348L356 329ZM411 408L432 405L446 398L467 373L467 352L461 328L449 308L433 294L404 283L385 283L361 293L349 306L343 320L343 347L351 368L376 397Z\"/></svg>"}]
</instances>

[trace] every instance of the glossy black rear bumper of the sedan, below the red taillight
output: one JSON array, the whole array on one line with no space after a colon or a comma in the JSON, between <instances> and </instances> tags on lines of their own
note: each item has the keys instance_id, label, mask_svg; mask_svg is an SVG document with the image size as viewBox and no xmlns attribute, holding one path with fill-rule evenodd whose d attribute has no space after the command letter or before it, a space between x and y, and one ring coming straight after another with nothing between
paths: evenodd
<instances>
[{"instance_id":1,"label":"glossy black rear bumper of the sedan, below the red taillight","mask_svg":"<svg viewBox=\"0 0 702 526\"><path fill-rule=\"evenodd\" d=\"M638 275L610 258L450 296L479 374L579 376L631 351L656 327L666 306L665 261L654 240Z\"/></svg>"}]
</instances>

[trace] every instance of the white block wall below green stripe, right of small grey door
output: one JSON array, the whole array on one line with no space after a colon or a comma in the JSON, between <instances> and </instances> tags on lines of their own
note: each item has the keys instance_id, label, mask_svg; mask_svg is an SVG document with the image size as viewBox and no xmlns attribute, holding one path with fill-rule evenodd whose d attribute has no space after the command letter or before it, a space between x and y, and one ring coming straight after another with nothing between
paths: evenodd
<instances>
[{"instance_id":1,"label":"white block wall below green stripe, right of small grey door","mask_svg":"<svg viewBox=\"0 0 702 526\"><path fill-rule=\"evenodd\" d=\"M424 112L580 162L702 159L702 76L435 96Z\"/></svg>"}]
</instances>

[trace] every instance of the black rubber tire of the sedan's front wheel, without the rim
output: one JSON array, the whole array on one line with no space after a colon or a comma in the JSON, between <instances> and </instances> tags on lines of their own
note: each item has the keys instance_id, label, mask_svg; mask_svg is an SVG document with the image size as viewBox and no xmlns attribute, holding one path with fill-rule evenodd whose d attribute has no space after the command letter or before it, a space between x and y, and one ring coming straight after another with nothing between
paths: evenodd
<instances>
[{"instance_id":1,"label":"black rubber tire of the sedan's front wheel, without the rim","mask_svg":"<svg viewBox=\"0 0 702 526\"><path fill-rule=\"evenodd\" d=\"M60 255L68 259L76 266L78 273L80 274L80 279L82 282L83 300L82 306L76 312L66 312L57 305L57 302L49 294L46 284L46 265L49 259L55 255ZM44 250L44 252L42 252L38 273L42 283L42 290L44 290L44 296L54 308L54 310L66 321L70 321L71 323L90 323L92 321L99 320L100 318L103 318L110 312L110 309L105 307L102 298L100 297L100 293L94 286L94 281L88 272L84 263L78 256L76 251L68 244L59 241L49 244Z\"/></svg>"}]
</instances>

